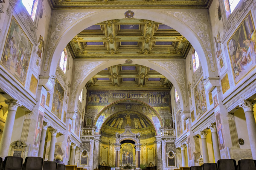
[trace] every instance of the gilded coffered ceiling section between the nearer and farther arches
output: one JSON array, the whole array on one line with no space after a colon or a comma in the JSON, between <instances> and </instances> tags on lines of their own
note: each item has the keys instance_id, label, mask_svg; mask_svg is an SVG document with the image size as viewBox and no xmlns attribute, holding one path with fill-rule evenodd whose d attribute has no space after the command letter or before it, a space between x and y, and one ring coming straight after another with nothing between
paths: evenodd
<instances>
[{"instance_id":1,"label":"gilded coffered ceiling section between the nearer and farther arches","mask_svg":"<svg viewBox=\"0 0 256 170\"><path fill-rule=\"evenodd\" d=\"M74 58L183 58L191 44L161 23L120 19L85 28L68 47Z\"/></svg>"}]
</instances>

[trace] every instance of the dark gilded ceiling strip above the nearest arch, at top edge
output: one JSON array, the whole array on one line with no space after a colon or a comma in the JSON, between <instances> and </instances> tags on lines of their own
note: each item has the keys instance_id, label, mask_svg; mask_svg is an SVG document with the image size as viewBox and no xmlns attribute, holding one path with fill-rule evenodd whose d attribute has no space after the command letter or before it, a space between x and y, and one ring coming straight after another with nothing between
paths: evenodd
<instances>
[{"instance_id":1,"label":"dark gilded ceiling strip above the nearest arch, at top edge","mask_svg":"<svg viewBox=\"0 0 256 170\"><path fill-rule=\"evenodd\" d=\"M208 8L211 0L49 0L52 8L127 9Z\"/></svg>"}]
</instances>

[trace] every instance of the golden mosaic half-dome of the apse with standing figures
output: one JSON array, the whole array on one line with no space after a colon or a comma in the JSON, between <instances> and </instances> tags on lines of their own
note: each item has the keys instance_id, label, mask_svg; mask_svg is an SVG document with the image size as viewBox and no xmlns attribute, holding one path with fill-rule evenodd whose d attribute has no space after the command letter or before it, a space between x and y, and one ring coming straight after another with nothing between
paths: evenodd
<instances>
[{"instance_id":1,"label":"golden mosaic half-dome of the apse with standing figures","mask_svg":"<svg viewBox=\"0 0 256 170\"><path fill-rule=\"evenodd\" d=\"M154 126L150 120L136 111L121 111L110 116L102 125L100 134L105 137L115 138L116 131L123 133L125 126L129 124L133 133L140 133L141 139L150 138L156 135Z\"/></svg>"}]
</instances>

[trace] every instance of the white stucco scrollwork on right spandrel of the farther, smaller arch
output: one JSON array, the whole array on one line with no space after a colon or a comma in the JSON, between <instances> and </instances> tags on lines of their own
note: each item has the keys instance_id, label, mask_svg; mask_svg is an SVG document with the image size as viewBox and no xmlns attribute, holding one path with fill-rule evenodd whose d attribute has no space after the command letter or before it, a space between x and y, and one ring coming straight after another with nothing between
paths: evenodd
<instances>
[{"instance_id":1,"label":"white stucco scrollwork on right spandrel of the farther, smaller arch","mask_svg":"<svg viewBox=\"0 0 256 170\"><path fill-rule=\"evenodd\" d=\"M150 61L150 62L160 65L177 80L180 86L181 92L183 94L182 99L184 100L185 106L188 106L187 95L186 95L186 75L185 75L185 67L184 67L183 60Z\"/></svg>"}]
</instances>

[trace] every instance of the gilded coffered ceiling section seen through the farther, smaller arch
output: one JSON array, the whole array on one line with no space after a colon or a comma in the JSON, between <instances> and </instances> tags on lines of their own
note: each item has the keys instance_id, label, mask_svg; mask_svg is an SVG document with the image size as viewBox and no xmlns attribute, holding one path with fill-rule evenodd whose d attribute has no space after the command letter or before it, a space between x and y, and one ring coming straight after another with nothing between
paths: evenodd
<instances>
[{"instance_id":1,"label":"gilded coffered ceiling section seen through the farther, smaller arch","mask_svg":"<svg viewBox=\"0 0 256 170\"><path fill-rule=\"evenodd\" d=\"M89 90L170 90L172 83L143 65L122 64L105 68L86 84Z\"/></svg>"}]
</instances>

